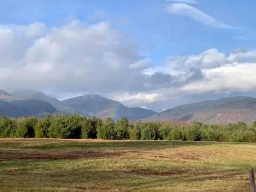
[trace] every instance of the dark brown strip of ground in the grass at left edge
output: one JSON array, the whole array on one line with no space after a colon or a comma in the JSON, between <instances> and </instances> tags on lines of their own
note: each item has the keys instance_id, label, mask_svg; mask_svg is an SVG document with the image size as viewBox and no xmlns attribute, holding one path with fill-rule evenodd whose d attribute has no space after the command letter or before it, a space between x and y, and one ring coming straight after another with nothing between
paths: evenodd
<instances>
[{"instance_id":1,"label":"dark brown strip of ground in the grass at left edge","mask_svg":"<svg viewBox=\"0 0 256 192\"><path fill-rule=\"evenodd\" d=\"M124 152L34 152L34 151L1 151L0 161L15 159L79 159L79 158L113 158L124 155Z\"/></svg>"}]
</instances>

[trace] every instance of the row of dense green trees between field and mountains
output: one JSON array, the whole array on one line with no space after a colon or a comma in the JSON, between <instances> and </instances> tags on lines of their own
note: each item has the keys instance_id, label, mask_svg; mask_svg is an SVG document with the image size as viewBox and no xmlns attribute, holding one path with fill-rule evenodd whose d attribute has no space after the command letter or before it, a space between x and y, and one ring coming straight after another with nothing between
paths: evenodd
<instances>
[{"instance_id":1,"label":"row of dense green trees between field and mountains","mask_svg":"<svg viewBox=\"0 0 256 192\"><path fill-rule=\"evenodd\" d=\"M45 118L0 116L0 138L132 139L254 142L256 122L203 124L201 122L131 122L82 115L46 115Z\"/></svg>"}]
</instances>

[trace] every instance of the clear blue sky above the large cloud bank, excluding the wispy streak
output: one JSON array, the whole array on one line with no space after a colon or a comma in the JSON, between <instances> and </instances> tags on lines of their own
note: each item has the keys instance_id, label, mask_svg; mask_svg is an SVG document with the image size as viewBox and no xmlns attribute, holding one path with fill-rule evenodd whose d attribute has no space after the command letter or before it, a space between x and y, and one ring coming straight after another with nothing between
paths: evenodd
<instances>
[{"instance_id":1,"label":"clear blue sky above the large cloud bank, excluding the wispy streak","mask_svg":"<svg viewBox=\"0 0 256 192\"><path fill-rule=\"evenodd\" d=\"M25 0L1 1L2 24L42 22L59 26L69 19L88 20L95 12L103 16L89 22L106 20L116 29L140 42L145 54L156 62L167 55L198 54L210 48L229 53L237 48L253 49L256 42L255 7L251 1L200 1L192 4L220 22L237 29L218 29L195 20L164 11L164 0L87 1L87 0ZM190 4L191 5L191 4ZM248 38L234 39L232 37ZM143 50L142 50L143 51ZM156 63L157 65L157 63Z\"/></svg>"}]
</instances>

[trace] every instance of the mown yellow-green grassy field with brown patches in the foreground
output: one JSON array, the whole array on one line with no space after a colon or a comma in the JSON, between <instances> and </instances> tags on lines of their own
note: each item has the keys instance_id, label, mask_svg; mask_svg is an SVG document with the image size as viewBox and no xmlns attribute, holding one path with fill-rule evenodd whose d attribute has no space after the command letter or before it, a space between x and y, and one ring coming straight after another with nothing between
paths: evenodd
<instances>
[{"instance_id":1,"label":"mown yellow-green grassy field with brown patches in the foreground","mask_svg":"<svg viewBox=\"0 0 256 192\"><path fill-rule=\"evenodd\" d=\"M249 191L256 144L0 140L0 191Z\"/></svg>"}]
</instances>

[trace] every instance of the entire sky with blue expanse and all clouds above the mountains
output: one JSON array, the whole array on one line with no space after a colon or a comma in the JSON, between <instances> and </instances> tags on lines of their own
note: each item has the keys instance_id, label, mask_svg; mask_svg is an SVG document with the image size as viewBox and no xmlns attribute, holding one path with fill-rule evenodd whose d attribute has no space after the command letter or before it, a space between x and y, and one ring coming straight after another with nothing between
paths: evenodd
<instances>
[{"instance_id":1,"label":"entire sky with blue expanse and all clouds above the mountains","mask_svg":"<svg viewBox=\"0 0 256 192\"><path fill-rule=\"evenodd\" d=\"M0 89L162 111L256 97L254 0L1 1Z\"/></svg>"}]
</instances>

